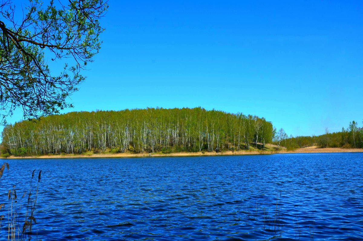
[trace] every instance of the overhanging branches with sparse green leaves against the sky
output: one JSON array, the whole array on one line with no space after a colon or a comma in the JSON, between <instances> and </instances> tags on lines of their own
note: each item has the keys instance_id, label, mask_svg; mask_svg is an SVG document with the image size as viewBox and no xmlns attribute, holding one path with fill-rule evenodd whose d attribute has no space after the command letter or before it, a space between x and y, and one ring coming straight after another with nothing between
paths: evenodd
<instances>
[{"instance_id":1,"label":"overhanging branches with sparse green leaves against the sky","mask_svg":"<svg viewBox=\"0 0 363 241\"><path fill-rule=\"evenodd\" d=\"M29 0L24 9L0 0L2 124L17 107L25 119L72 107L66 98L85 80L80 71L100 49L99 34L104 29L99 19L107 8L107 0L51 0L46 5ZM67 59L67 63L54 74L48 59Z\"/></svg>"}]
</instances>

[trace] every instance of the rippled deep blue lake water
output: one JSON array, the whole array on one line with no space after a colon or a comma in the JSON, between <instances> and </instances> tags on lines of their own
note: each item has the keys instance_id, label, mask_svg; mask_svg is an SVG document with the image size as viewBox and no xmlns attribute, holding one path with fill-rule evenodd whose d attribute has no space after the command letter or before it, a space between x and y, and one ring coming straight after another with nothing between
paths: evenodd
<instances>
[{"instance_id":1,"label":"rippled deep blue lake water","mask_svg":"<svg viewBox=\"0 0 363 241\"><path fill-rule=\"evenodd\" d=\"M3 161L34 240L363 240L363 153Z\"/></svg>"}]
</instances>

